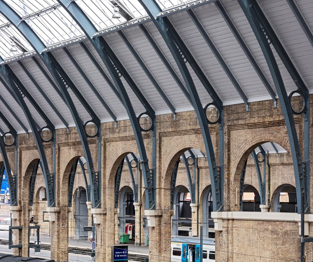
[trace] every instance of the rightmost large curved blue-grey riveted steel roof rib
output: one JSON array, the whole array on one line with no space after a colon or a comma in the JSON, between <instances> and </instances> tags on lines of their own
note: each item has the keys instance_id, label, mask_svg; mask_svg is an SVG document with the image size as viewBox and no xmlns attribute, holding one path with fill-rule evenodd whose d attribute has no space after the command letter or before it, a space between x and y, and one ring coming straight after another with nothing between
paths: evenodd
<instances>
[{"instance_id":1,"label":"rightmost large curved blue-grey riveted steel roof rib","mask_svg":"<svg viewBox=\"0 0 313 262\"><path fill-rule=\"evenodd\" d=\"M277 53L283 60L284 64L287 65L287 69L291 74L293 80L299 80L298 88L301 91L307 90L304 86L303 81L298 79L297 71L293 70L294 66L292 65L291 60L289 59L286 51L280 46L280 42L276 37L273 29L270 27L268 21L264 17L262 10L260 9L258 3L254 0L238 0L241 8L243 9L248 22L250 23L252 30L258 40L258 43L262 49L262 52L267 61L271 76L273 78L276 91L279 97L279 101L282 107L282 112L285 119L285 124L289 136L289 142L291 147L291 156L293 162L293 170L295 176L295 185L296 185L296 194L297 194L297 203L298 203L298 212L307 212L309 209L308 203L308 192L307 192L307 178L305 177L305 172L303 168L303 163L301 159L300 146L298 141L298 136L294 124L293 112L291 108L291 103L287 95L283 79L281 77L277 62L270 48L270 44L278 48L276 49ZM278 42L276 42L278 41ZM301 83L302 82L302 83ZM308 94L307 92L304 95ZM304 200L303 205L301 205L302 199ZM300 206L303 206L305 210L302 210ZM301 211L302 210L302 211Z\"/></svg>"}]
</instances>

